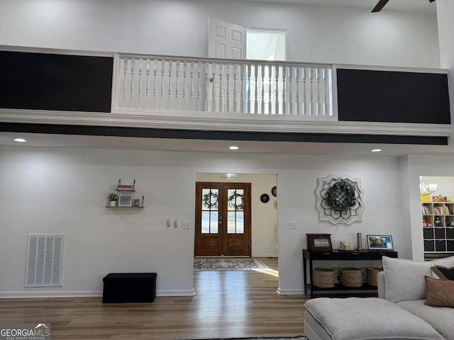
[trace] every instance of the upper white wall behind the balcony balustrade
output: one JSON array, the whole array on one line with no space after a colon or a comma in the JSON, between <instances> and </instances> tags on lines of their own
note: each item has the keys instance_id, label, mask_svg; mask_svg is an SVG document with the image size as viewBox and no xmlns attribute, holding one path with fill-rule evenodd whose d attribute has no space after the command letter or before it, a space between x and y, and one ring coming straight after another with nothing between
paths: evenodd
<instances>
[{"instance_id":1,"label":"upper white wall behind the balcony balustrade","mask_svg":"<svg viewBox=\"0 0 454 340\"><path fill-rule=\"evenodd\" d=\"M0 45L203 57L209 17L288 29L288 60L440 65L435 14L240 0L3 0Z\"/></svg>"}]
</instances>

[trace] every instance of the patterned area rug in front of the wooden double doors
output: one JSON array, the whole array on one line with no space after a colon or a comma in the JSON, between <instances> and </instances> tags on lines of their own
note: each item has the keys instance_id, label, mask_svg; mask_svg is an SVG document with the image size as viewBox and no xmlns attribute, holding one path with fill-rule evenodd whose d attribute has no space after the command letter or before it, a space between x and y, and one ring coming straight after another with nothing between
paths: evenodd
<instances>
[{"instance_id":1,"label":"patterned area rug in front of the wooden double doors","mask_svg":"<svg viewBox=\"0 0 454 340\"><path fill-rule=\"evenodd\" d=\"M194 259L194 271L272 271L260 259Z\"/></svg>"}]
</instances>

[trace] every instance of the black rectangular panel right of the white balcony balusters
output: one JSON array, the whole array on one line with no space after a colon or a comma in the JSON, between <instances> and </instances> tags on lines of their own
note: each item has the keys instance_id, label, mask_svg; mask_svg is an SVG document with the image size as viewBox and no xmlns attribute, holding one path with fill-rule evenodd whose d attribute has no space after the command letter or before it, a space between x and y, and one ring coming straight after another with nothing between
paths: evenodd
<instances>
[{"instance_id":1,"label":"black rectangular panel right of the white balcony balusters","mask_svg":"<svg viewBox=\"0 0 454 340\"><path fill-rule=\"evenodd\" d=\"M339 120L450 124L447 74L338 69Z\"/></svg>"}]
</instances>

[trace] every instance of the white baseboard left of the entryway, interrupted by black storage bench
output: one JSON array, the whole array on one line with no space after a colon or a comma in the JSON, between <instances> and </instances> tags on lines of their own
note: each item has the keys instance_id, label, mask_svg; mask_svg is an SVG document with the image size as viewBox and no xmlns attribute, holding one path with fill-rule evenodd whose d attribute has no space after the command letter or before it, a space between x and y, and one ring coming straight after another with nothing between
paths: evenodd
<instances>
[{"instance_id":1,"label":"white baseboard left of the entryway, interrupted by black storage bench","mask_svg":"<svg viewBox=\"0 0 454 340\"><path fill-rule=\"evenodd\" d=\"M194 289L188 290L157 290L156 296L194 296ZM25 298L25 297L101 297L101 291L45 291L45 292L0 292L0 299Z\"/></svg>"}]
</instances>

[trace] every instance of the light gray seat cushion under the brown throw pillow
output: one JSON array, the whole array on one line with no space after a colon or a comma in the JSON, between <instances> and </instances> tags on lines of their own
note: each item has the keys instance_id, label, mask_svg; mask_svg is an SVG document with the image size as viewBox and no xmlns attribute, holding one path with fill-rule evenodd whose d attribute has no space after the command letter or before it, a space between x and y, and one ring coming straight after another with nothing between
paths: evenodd
<instances>
[{"instance_id":1,"label":"light gray seat cushion under the brown throw pillow","mask_svg":"<svg viewBox=\"0 0 454 340\"><path fill-rule=\"evenodd\" d=\"M399 301L397 305L408 310L431 324L445 339L454 340L454 310L448 307L431 307L425 305L426 300Z\"/></svg>"}]
</instances>

